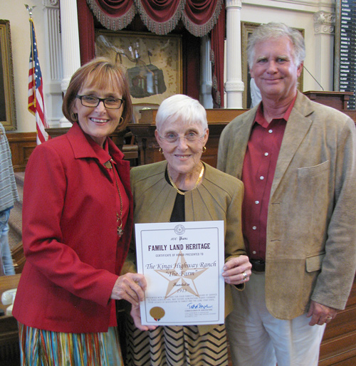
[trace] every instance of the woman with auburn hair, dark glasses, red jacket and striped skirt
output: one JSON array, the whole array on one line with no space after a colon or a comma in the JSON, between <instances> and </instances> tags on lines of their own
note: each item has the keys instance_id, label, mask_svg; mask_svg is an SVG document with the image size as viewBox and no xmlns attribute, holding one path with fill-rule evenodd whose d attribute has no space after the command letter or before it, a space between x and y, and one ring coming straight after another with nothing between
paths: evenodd
<instances>
[{"instance_id":1,"label":"woman with auburn hair, dark glasses, red jacket and striped skirt","mask_svg":"<svg viewBox=\"0 0 356 366\"><path fill-rule=\"evenodd\" d=\"M115 300L137 305L145 278L120 276L132 233L129 162L110 140L131 116L125 73L79 68L63 114L73 127L36 147L23 187L23 249L13 315L22 365L123 365Z\"/></svg>"}]
</instances>

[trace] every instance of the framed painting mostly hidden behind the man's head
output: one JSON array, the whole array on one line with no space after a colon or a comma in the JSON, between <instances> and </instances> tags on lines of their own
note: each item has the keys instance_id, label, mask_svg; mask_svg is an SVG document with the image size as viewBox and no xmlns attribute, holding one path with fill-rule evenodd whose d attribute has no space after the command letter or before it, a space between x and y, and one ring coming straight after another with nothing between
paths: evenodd
<instances>
[{"instance_id":1,"label":"framed painting mostly hidden behind the man's head","mask_svg":"<svg viewBox=\"0 0 356 366\"><path fill-rule=\"evenodd\" d=\"M251 75L248 70L247 62L247 41L248 37L253 33L253 30L257 28L261 23L251 23L247 21L241 21L241 65L242 65L242 81L245 85L245 90L242 95L242 105L243 108L251 108ZM297 28L304 37L304 29ZM298 78L298 90L303 92L303 70Z\"/></svg>"}]
</instances>

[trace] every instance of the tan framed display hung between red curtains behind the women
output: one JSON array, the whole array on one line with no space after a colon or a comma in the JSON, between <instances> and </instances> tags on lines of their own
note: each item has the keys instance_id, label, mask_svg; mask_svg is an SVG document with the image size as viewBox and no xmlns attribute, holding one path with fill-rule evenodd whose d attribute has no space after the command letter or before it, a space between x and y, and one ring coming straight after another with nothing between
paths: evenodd
<instances>
[{"instance_id":1,"label":"tan framed display hung between red curtains behind the women","mask_svg":"<svg viewBox=\"0 0 356 366\"><path fill-rule=\"evenodd\" d=\"M108 57L125 68L133 105L159 105L182 93L179 35L97 30L95 56Z\"/></svg>"}]
</instances>

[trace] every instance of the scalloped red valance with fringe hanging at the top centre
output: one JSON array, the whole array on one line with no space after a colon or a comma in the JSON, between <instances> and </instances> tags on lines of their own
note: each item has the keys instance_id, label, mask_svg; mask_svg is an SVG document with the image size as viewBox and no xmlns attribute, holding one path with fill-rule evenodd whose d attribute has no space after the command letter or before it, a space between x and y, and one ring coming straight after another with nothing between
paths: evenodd
<instances>
[{"instance_id":1,"label":"scalloped red valance with fringe hanging at the top centre","mask_svg":"<svg viewBox=\"0 0 356 366\"><path fill-rule=\"evenodd\" d=\"M96 19L118 31L132 21L135 12L152 33L172 31L180 19L196 37L205 36L216 24L224 0L86 0Z\"/></svg>"}]
</instances>

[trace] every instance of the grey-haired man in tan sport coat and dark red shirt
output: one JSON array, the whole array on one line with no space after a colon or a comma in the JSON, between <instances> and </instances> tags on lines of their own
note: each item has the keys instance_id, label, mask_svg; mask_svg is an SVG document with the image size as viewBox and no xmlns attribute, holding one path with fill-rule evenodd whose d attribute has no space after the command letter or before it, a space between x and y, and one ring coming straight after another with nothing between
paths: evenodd
<instances>
[{"instance_id":1,"label":"grey-haired man in tan sport coat and dark red shirt","mask_svg":"<svg viewBox=\"0 0 356 366\"><path fill-rule=\"evenodd\" d=\"M298 31L259 26L247 53L262 101L225 127L218 155L218 168L245 185L252 263L226 320L232 360L318 365L325 324L345 308L355 277L355 123L297 90L305 58Z\"/></svg>"}]
</instances>

